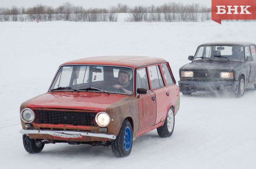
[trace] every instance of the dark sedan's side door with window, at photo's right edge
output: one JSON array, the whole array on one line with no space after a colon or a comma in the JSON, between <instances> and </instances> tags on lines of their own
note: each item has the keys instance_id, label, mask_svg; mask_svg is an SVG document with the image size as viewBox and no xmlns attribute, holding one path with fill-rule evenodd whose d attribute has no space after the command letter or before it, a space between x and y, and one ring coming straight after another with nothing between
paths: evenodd
<instances>
[{"instance_id":1,"label":"dark sedan's side door with window, at photo's right edge","mask_svg":"<svg viewBox=\"0 0 256 169\"><path fill-rule=\"evenodd\" d=\"M248 60L248 57L252 57L253 60ZM247 64L247 83L253 82L256 80L256 53L255 46L246 46L245 47L245 58Z\"/></svg>"}]
</instances>

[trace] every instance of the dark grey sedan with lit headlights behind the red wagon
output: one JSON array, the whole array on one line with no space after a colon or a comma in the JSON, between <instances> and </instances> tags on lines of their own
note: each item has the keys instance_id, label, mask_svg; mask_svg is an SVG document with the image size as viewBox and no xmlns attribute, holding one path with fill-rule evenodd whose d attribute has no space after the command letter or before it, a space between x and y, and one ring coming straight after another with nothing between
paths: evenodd
<instances>
[{"instance_id":1,"label":"dark grey sedan with lit headlights behind the red wagon","mask_svg":"<svg viewBox=\"0 0 256 169\"><path fill-rule=\"evenodd\" d=\"M234 93L242 97L245 87L256 89L256 46L251 42L211 42L201 44L191 63L180 68L180 92Z\"/></svg>"}]
</instances>

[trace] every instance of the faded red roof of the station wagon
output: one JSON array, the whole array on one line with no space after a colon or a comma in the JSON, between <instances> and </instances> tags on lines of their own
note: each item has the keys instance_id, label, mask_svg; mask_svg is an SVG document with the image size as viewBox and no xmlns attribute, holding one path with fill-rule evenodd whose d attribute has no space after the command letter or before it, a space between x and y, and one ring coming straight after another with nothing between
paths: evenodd
<instances>
[{"instance_id":1,"label":"faded red roof of the station wagon","mask_svg":"<svg viewBox=\"0 0 256 169\"><path fill-rule=\"evenodd\" d=\"M94 65L113 65L126 67L143 67L149 64L164 63L165 59L148 56L98 56L84 59L77 59L65 62L65 64L94 64Z\"/></svg>"}]
</instances>

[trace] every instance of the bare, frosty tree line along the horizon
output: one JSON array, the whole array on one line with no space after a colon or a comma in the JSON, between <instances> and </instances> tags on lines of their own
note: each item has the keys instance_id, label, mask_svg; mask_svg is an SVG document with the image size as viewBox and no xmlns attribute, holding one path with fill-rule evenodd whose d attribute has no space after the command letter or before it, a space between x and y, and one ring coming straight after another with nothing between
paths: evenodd
<instances>
[{"instance_id":1,"label":"bare, frosty tree line along the horizon","mask_svg":"<svg viewBox=\"0 0 256 169\"><path fill-rule=\"evenodd\" d=\"M204 21L211 19L211 8L198 3L165 3L160 6L135 6L125 4L109 8L89 8L75 6L69 2L53 8L38 4L31 8L0 8L0 21L79 21L79 22L116 22L118 13L127 13L128 22L173 22L173 21Z\"/></svg>"}]
</instances>

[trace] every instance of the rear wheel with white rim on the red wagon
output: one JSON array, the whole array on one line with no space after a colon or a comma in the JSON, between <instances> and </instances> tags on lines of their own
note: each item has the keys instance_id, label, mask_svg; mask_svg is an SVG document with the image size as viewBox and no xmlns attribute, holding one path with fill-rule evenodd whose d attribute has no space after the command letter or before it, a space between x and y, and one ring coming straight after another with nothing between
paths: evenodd
<instances>
[{"instance_id":1,"label":"rear wheel with white rim on the red wagon","mask_svg":"<svg viewBox=\"0 0 256 169\"><path fill-rule=\"evenodd\" d=\"M170 108L167 116L165 118L165 123L163 126L157 128L157 133L160 137L170 137L172 136L175 124L175 116L173 108Z\"/></svg>"}]
</instances>

